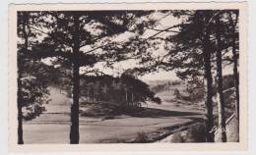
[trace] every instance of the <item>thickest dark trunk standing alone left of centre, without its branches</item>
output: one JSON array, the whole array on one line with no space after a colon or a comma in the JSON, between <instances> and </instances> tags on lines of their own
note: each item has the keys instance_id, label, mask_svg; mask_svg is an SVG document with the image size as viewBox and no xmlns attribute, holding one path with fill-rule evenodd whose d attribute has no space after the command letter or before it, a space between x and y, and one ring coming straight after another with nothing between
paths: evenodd
<instances>
[{"instance_id":1,"label":"thickest dark trunk standing alone left of centre, without its branches","mask_svg":"<svg viewBox=\"0 0 256 155\"><path fill-rule=\"evenodd\" d=\"M80 64L78 61L79 53L79 17L74 15L74 27L75 32L73 35L73 104L71 106L71 129L70 129L70 143L79 143L79 93L80 93L80 77L79 68Z\"/></svg>"}]
</instances>

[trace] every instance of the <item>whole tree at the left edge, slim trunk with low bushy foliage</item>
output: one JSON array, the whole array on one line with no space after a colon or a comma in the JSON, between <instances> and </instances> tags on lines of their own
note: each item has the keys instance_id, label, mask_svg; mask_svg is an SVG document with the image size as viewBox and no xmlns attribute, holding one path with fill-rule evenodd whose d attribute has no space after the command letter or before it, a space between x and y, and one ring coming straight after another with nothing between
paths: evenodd
<instances>
[{"instance_id":1,"label":"whole tree at the left edge, slim trunk with low bushy foliage","mask_svg":"<svg viewBox=\"0 0 256 155\"><path fill-rule=\"evenodd\" d=\"M18 46L18 144L24 144L23 139L23 120L30 120L43 111L43 104L48 103L48 90L45 80L48 68L41 62L31 60L30 47L36 42L38 33L32 31L34 25L34 15L30 12L18 12L17 34ZM24 114L23 108L27 110Z\"/></svg>"}]
</instances>

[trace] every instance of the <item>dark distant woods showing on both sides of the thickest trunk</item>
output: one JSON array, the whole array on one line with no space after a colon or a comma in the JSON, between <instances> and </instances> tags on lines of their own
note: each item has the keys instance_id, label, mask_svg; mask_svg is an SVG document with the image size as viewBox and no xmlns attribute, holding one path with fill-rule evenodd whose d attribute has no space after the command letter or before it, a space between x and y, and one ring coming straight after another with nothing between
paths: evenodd
<instances>
[{"instance_id":1,"label":"dark distant woods showing on both sides of the thickest trunk","mask_svg":"<svg viewBox=\"0 0 256 155\"><path fill-rule=\"evenodd\" d=\"M43 70L48 74L44 83L65 90L68 96L72 97L72 77L68 68L47 66ZM124 72L120 77L103 73L95 73L92 76L80 75L81 98L89 103L104 102L128 109L141 107L142 103L147 101L160 104L160 98L152 91L150 85L128 72Z\"/></svg>"}]
</instances>

